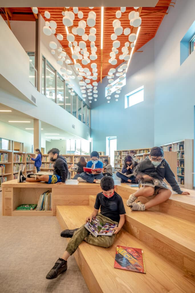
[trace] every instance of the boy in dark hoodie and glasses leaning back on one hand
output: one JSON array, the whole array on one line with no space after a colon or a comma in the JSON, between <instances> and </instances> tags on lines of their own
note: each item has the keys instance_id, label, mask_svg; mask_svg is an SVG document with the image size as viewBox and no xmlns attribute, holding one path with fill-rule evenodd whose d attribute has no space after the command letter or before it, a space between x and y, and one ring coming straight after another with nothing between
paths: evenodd
<instances>
[{"instance_id":1,"label":"boy in dark hoodie and glasses leaning back on one hand","mask_svg":"<svg viewBox=\"0 0 195 293\"><path fill-rule=\"evenodd\" d=\"M149 159L141 161L135 168L135 176L140 179L139 184L143 187L130 195L127 200L127 206L131 207L132 210L144 211L168 200L171 190L163 181L164 178L170 184L173 191L183 195L189 194L189 192L180 189L168 162L163 159L163 156L162 148L153 147L150 151ZM145 205L140 201L135 202L138 196L148 197L150 195L156 196Z\"/></svg>"}]
</instances>

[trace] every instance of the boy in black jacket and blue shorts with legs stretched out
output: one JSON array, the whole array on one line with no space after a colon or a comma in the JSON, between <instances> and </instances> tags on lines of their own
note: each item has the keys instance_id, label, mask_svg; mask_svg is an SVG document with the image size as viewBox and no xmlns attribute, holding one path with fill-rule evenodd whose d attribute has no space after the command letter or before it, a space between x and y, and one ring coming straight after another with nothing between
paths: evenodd
<instances>
[{"instance_id":1,"label":"boy in black jacket and blue shorts with legs stretched out","mask_svg":"<svg viewBox=\"0 0 195 293\"><path fill-rule=\"evenodd\" d=\"M49 160L55 162L53 168L53 175L36 175L30 173L27 175L27 178L23 175L20 170L18 173L18 183L23 182L40 182L45 181L48 184L65 184L65 181L68 176L68 165L64 157L59 155L59 149L53 148L48 151Z\"/></svg>"}]
</instances>

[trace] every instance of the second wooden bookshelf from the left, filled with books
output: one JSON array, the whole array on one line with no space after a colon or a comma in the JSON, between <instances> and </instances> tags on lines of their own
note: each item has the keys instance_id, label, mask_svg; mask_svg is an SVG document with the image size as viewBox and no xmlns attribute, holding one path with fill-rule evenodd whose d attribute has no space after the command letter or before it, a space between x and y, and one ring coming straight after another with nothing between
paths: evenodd
<instances>
[{"instance_id":1,"label":"second wooden bookshelf from the left, filled with books","mask_svg":"<svg viewBox=\"0 0 195 293\"><path fill-rule=\"evenodd\" d=\"M24 170L26 176L26 153L23 151L13 151L13 179L18 179L18 172Z\"/></svg>"}]
</instances>

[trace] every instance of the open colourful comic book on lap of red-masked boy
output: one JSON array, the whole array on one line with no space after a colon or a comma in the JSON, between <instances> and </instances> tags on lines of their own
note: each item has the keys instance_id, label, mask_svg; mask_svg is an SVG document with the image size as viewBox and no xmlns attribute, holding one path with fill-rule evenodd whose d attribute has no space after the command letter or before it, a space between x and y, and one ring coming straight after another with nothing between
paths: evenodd
<instances>
[{"instance_id":1,"label":"open colourful comic book on lap of red-masked boy","mask_svg":"<svg viewBox=\"0 0 195 293\"><path fill-rule=\"evenodd\" d=\"M92 218L91 222L85 224L85 228L95 237L97 236L112 236L114 233L113 228L116 224L106 223L105 225L99 221L96 217Z\"/></svg>"}]
</instances>

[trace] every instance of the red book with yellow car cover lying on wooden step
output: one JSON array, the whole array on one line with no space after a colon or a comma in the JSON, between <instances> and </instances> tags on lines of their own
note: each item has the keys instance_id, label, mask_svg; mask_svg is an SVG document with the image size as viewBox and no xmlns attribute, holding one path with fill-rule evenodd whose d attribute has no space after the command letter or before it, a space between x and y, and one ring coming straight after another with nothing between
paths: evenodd
<instances>
[{"instance_id":1,"label":"red book with yellow car cover lying on wooden step","mask_svg":"<svg viewBox=\"0 0 195 293\"><path fill-rule=\"evenodd\" d=\"M143 250L141 248L117 246L114 268L146 273Z\"/></svg>"}]
</instances>

